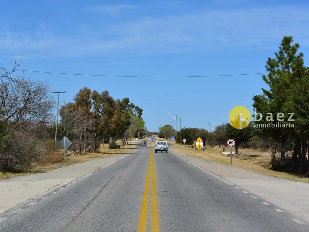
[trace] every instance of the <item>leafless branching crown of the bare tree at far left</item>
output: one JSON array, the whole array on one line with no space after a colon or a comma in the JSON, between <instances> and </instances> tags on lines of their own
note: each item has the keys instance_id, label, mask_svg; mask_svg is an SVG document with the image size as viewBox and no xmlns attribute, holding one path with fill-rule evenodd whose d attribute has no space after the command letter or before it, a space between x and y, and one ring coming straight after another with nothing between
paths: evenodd
<instances>
[{"instance_id":1,"label":"leafless branching crown of the bare tree at far left","mask_svg":"<svg viewBox=\"0 0 309 232\"><path fill-rule=\"evenodd\" d=\"M0 83L2 122L15 127L36 125L51 117L55 101L49 94L49 86L41 81L19 78Z\"/></svg>"}]
</instances>

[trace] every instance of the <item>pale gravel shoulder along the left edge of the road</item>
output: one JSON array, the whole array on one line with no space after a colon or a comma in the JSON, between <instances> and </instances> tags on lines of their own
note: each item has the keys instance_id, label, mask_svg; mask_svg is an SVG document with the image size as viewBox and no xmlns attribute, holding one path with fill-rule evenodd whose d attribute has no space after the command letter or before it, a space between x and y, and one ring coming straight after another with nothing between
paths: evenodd
<instances>
[{"instance_id":1,"label":"pale gravel shoulder along the left edge of the road","mask_svg":"<svg viewBox=\"0 0 309 232\"><path fill-rule=\"evenodd\" d=\"M0 181L0 215L14 206L27 203L29 199L38 198L57 187L95 172L125 155L127 154L93 159L44 173L4 179Z\"/></svg>"}]
</instances>

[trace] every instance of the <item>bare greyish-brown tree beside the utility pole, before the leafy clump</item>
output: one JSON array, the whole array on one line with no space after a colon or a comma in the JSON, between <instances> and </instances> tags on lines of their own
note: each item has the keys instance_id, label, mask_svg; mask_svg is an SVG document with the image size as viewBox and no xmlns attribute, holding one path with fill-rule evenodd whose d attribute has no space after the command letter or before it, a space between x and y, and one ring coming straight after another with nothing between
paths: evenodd
<instances>
[{"instance_id":1,"label":"bare greyish-brown tree beside the utility pole, before the leafy clump","mask_svg":"<svg viewBox=\"0 0 309 232\"><path fill-rule=\"evenodd\" d=\"M85 117L82 108L74 103L61 106L60 115L59 129L72 141L74 153L85 153L88 145L86 141L89 141L91 136L89 131L93 128L93 119Z\"/></svg>"}]
</instances>

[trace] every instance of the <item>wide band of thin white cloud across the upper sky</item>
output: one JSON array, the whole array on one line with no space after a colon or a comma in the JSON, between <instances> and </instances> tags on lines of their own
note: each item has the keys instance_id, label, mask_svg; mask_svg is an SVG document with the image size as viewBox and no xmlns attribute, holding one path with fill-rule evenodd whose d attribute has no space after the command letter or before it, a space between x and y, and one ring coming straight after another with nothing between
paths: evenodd
<instances>
[{"instance_id":1,"label":"wide band of thin white cloud across the upper sky","mask_svg":"<svg viewBox=\"0 0 309 232\"><path fill-rule=\"evenodd\" d=\"M284 35L308 46L309 7L267 7L229 11L196 11L167 17L143 17L117 24L89 25L68 34L0 32L2 51L21 56L207 52L210 50L277 47ZM293 15L293 17L284 17ZM16 54L16 53L15 53ZM24 54L24 55L23 55Z\"/></svg>"}]
</instances>

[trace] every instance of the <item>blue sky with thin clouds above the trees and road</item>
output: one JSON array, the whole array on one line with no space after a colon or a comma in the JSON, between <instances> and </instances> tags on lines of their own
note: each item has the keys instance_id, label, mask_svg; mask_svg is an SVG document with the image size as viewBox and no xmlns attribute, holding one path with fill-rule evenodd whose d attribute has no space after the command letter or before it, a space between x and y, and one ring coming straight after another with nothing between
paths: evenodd
<instances>
[{"instance_id":1,"label":"blue sky with thin clouds above the trees and road","mask_svg":"<svg viewBox=\"0 0 309 232\"><path fill-rule=\"evenodd\" d=\"M305 1L3 0L0 63L21 59L24 70L129 76L197 76L265 72L285 35L309 59L309 3ZM11 9L11 10L10 10ZM266 87L261 75L145 78L26 72L47 80L72 101L87 86L129 97L143 109L150 131L171 115L183 127L211 130L228 122L236 105L252 111ZM56 99L56 94L54 94Z\"/></svg>"}]
</instances>

